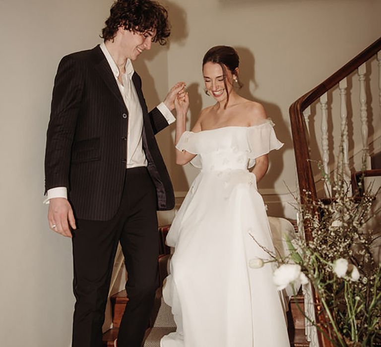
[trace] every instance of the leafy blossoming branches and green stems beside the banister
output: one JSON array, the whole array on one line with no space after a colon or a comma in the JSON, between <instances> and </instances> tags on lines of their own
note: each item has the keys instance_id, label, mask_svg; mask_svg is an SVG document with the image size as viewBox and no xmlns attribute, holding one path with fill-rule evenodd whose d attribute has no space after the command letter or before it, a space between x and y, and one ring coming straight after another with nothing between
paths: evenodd
<instances>
[{"instance_id":1,"label":"leafy blossoming branches and green stems beside the banister","mask_svg":"<svg viewBox=\"0 0 381 347\"><path fill-rule=\"evenodd\" d=\"M336 177L330 203L306 191L297 205L312 240L286 242L319 295L334 346L381 346L381 264L372 252L374 233L366 230L375 197L371 187L361 197L351 196L344 175ZM338 259L347 261L342 276L335 268Z\"/></svg>"}]
</instances>

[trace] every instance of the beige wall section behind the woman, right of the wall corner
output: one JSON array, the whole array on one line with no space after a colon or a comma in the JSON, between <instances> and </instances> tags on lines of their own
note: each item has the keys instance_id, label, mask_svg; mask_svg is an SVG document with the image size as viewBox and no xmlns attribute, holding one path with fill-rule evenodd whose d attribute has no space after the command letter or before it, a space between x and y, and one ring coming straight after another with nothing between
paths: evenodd
<instances>
[{"instance_id":1,"label":"beige wall section behind the woman, right of the wall corner","mask_svg":"<svg viewBox=\"0 0 381 347\"><path fill-rule=\"evenodd\" d=\"M214 45L241 56L241 94L262 103L284 147L270 155L259 184L270 214L293 215L285 183L294 189L289 106L381 36L379 0L172 0L182 7L188 36L168 52L169 84L190 86L190 123L213 103L203 93L201 61ZM175 20L175 19L173 19ZM176 20L176 24L178 21ZM181 73L179 73L181 71ZM191 125L190 124L190 125ZM172 168L175 189L187 190L197 170ZM283 205L281 211L279 200Z\"/></svg>"}]
</instances>

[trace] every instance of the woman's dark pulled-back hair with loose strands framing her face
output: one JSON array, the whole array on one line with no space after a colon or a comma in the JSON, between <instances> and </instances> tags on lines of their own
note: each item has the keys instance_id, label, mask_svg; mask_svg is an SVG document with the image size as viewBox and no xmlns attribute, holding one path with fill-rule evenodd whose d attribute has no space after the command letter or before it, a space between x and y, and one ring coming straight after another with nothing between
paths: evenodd
<instances>
[{"instance_id":1,"label":"woman's dark pulled-back hair with loose strands framing her face","mask_svg":"<svg viewBox=\"0 0 381 347\"><path fill-rule=\"evenodd\" d=\"M236 69L240 64L240 57L238 56L236 50L230 46L214 46L208 52L205 53L204 58L202 59L202 67L207 62L214 62L220 64L222 68L222 73L224 76L224 86L227 95L226 105L229 102L228 86L226 85L226 68L228 68L231 73L237 76L237 83L240 88L242 88L242 83L239 80L238 73Z\"/></svg>"}]
</instances>

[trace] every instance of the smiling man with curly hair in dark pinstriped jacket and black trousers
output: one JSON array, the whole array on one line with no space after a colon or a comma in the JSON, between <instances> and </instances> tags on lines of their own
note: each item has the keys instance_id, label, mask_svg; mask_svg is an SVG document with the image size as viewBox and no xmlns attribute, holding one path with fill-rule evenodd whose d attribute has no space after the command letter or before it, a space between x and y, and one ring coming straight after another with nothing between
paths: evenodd
<instances>
[{"instance_id":1,"label":"smiling man with curly hair in dark pinstriped jacket and black trousers","mask_svg":"<svg viewBox=\"0 0 381 347\"><path fill-rule=\"evenodd\" d=\"M53 89L45 176L50 228L72 237L76 298L73 347L101 347L118 242L129 298L118 347L140 347L158 287L156 210L174 207L154 135L174 120L176 84L148 113L135 60L166 44L167 10L151 0L117 0L104 42L64 57Z\"/></svg>"}]
</instances>

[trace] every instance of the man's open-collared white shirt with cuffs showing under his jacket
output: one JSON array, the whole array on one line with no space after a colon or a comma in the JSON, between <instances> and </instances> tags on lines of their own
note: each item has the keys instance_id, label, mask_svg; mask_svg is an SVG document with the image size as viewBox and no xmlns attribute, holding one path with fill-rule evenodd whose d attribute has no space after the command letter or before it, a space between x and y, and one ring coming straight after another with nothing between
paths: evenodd
<instances>
[{"instance_id":1,"label":"man's open-collared white shirt with cuffs showing under his jacket","mask_svg":"<svg viewBox=\"0 0 381 347\"><path fill-rule=\"evenodd\" d=\"M135 86L132 82L132 75L134 73L133 66L130 59L127 59L125 66L125 73L122 75L123 84L119 81L120 75L119 68L111 57L109 51L104 42L100 45L100 48L105 55L114 77L118 84L119 90L122 94L123 100L128 110L128 128L127 128L127 169L136 167L146 167L147 158L145 157L142 144L142 131L143 131L143 113L141 105L136 93ZM172 115L171 111L164 103L157 106L158 110L167 119L168 124L173 123L176 119ZM48 189L48 196L44 203L49 203L49 199L52 198L67 198L66 187L55 187Z\"/></svg>"}]
</instances>

